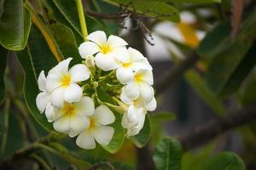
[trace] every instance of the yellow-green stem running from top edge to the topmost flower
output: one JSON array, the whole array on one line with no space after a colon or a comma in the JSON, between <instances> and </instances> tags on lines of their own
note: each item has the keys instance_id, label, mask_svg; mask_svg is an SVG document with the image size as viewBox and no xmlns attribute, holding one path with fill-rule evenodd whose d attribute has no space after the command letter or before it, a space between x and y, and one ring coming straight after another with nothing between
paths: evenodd
<instances>
[{"instance_id":1,"label":"yellow-green stem running from top edge to the topmost flower","mask_svg":"<svg viewBox=\"0 0 256 170\"><path fill-rule=\"evenodd\" d=\"M77 9L79 12L79 21L80 21L80 26L81 26L82 34L84 37L84 41L87 41L88 32L87 32L87 27L86 27L86 22L84 17L83 3L82 3L82 0L76 0L76 3L77 3Z\"/></svg>"}]
</instances>

